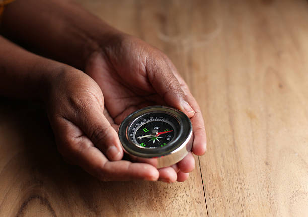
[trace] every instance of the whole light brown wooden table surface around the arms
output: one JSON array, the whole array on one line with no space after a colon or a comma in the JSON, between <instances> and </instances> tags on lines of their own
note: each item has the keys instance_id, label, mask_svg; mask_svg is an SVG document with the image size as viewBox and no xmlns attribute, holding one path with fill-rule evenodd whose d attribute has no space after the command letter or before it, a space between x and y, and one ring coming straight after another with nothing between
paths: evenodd
<instances>
[{"instance_id":1,"label":"whole light brown wooden table surface around the arms","mask_svg":"<svg viewBox=\"0 0 308 217\"><path fill-rule=\"evenodd\" d=\"M79 1L163 50L203 111L184 183L99 182L40 105L1 98L0 216L308 216L308 3Z\"/></svg>"}]
</instances>

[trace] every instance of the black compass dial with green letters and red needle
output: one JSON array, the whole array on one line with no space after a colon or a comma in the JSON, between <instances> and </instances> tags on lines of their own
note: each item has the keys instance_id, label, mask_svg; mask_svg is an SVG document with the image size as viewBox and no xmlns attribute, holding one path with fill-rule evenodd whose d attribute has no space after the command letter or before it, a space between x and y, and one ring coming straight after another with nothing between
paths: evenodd
<instances>
[{"instance_id":1,"label":"black compass dial with green letters and red needle","mask_svg":"<svg viewBox=\"0 0 308 217\"><path fill-rule=\"evenodd\" d=\"M166 113L144 114L128 128L130 140L136 146L148 149L167 146L178 132L178 121Z\"/></svg>"}]
</instances>

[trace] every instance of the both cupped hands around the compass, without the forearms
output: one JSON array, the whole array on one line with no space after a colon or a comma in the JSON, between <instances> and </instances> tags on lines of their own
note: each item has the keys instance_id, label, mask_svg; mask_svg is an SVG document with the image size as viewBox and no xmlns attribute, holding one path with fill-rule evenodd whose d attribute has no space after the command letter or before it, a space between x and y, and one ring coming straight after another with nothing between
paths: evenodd
<instances>
[{"instance_id":1,"label":"both cupped hands around the compass, without the forearms","mask_svg":"<svg viewBox=\"0 0 308 217\"><path fill-rule=\"evenodd\" d=\"M193 125L192 152L203 155L206 151L199 105L166 55L137 38L116 34L89 55L86 74L66 65L58 71L51 79L46 105L58 150L66 161L103 181L188 178L195 167L192 153L161 169L156 169L155 160L121 160L119 124L149 105L182 110Z\"/></svg>"}]
</instances>

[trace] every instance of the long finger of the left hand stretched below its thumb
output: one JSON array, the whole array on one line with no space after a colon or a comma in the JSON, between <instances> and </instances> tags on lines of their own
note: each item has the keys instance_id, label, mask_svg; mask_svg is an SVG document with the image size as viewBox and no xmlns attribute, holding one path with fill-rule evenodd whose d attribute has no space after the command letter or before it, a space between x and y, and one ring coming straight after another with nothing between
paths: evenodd
<instances>
[{"instance_id":1,"label":"long finger of the left hand stretched below its thumb","mask_svg":"<svg viewBox=\"0 0 308 217\"><path fill-rule=\"evenodd\" d=\"M62 147L60 150L64 158L68 158L102 181L134 179L155 181L159 177L157 169L149 164L108 161L91 140L81 134L82 131L78 127L65 119L60 120L54 128L57 143Z\"/></svg>"}]
</instances>

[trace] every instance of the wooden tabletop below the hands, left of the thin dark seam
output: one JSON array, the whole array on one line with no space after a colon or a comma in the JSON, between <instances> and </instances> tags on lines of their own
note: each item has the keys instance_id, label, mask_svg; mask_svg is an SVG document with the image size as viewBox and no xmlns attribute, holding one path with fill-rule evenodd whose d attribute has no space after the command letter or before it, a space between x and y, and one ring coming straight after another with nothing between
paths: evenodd
<instances>
[{"instance_id":1,"label":"wooden tabletop below the hands, left of the thin dark seam","mask_svg":"<svg viewBox=\"0 0 308 217\"><path fill-rule=\"evenodd\" d=\"M0 216L206 215L199 167L184 183L99 182L62 160L44 110L27 102L1 104L0 132Z\"/></svg>"}]
</instances>

